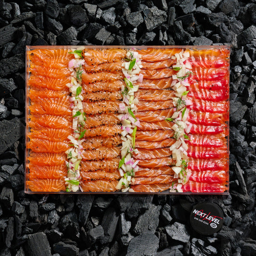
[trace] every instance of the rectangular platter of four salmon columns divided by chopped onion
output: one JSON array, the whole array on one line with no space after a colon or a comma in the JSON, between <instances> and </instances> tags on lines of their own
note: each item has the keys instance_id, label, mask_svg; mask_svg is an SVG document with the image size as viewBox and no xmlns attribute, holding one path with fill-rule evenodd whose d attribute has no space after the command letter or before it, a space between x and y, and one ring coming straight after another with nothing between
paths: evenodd
<instances>
[{"instance_id":1,"label":"rectangular platter of four salmon columns divided by chopped onion","mask_svg":"<svg viewBox=\"0 0 256 256\"><path fill-rule=\"evenodd\" d=\"M26 193L228 194L228 46L27 46Z\"/></svg>"}]
</instances>

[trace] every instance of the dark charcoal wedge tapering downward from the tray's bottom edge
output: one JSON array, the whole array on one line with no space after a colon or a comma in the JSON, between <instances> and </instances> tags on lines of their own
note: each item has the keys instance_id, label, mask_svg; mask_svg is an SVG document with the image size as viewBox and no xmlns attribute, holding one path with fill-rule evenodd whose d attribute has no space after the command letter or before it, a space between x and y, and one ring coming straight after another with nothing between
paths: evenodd
<instances>
[{"instance_id":1,"label":"dark charcoal wedge tapering downward from the tray's bottom edge","mask_svg":"<svg viewBox=\"0 0 256 256\"><path fill-rule=\"evenodd\" d=\"M87 221L87 218L89 216L89 213L92 207L93 200L94 200L93 195L87 195L87 196L79 195L77 197L76 205L77 207L79 207L78 220L82 226L84 226Z\"/></svg>"}]
</instances>

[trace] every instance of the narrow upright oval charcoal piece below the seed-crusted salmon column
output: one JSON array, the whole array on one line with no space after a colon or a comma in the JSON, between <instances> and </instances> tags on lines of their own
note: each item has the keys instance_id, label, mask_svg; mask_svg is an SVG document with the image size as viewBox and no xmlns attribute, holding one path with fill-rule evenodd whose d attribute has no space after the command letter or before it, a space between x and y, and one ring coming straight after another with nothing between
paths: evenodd
<instances>
[{"instance_id":1,"label":"narrow upright oval charcoal piece below the seed-crusted salmon column","mask_svg":"<svg viewBox=\"0 0 256 256\"><path fill-rule=\"evenodd\" d=\"M102 218L102 227L104 229L104 243L110 243L113 241L119 216L117 216L114 208L109 207Z\"/></svg>"}]
</instances>

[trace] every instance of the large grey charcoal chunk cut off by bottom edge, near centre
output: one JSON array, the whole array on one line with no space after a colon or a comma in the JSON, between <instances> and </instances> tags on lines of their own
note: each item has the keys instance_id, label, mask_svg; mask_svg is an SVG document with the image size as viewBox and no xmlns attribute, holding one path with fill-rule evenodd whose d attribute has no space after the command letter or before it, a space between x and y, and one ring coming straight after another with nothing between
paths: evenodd
<instances>
[{"instance_id":1,"label":"large grey charcoal chunk cut off by bottom edge, near centre","mask_svg":"<svg viewBox=\"0 0 256 256\"><path fill-rule=\"evenodd\" d=\"M130 241L126 256L155 256L158 250L158 243L159 240L155 234L140 234Z\"/></svg>"}]
</instances>

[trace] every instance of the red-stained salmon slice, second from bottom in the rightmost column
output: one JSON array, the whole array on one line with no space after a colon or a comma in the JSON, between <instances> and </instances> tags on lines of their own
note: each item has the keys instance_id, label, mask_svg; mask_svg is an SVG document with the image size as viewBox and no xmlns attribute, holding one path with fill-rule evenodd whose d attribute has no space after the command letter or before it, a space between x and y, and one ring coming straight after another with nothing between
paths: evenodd
<instances>
[{"instance_id":1,"label":"red-stained salmon slice, second from bottom in the rightmost column","mask_svg":"<svg viewBox=\"0 0 256 256\"><path fill-rule=\"evenodd\" d=\"M227 171L192 171L190 181L206 183L225 183L228 179Z\"/></svg>"}]
</instances>

